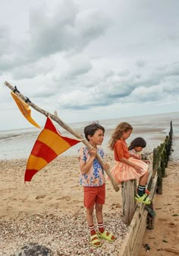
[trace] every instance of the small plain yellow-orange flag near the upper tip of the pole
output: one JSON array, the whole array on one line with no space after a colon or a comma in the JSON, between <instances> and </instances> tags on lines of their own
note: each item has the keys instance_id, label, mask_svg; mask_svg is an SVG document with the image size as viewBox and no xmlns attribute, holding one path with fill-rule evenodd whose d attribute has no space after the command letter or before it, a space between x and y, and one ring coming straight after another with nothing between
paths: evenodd
<instances>
[{"instance_id":1,"label":"small plain yellow-orange flag near the upper tip of the pole","mask_svg":"<svg viewBox=\"0 0 179 256\"><path fill-rule=\"evenodd\" d=\"M31 110L29 109L29 105L26 104L24 101L22 101L20 98L17 97L14 92L11 91L11 96L14 98L15 103L17 104L17 107L20 109L20 112L24 115L24 117L31 123L33 126L36 126L37 128L41 129L39 124L36 123L33 118L30 115Z\"/></svg>"}]
</instances>

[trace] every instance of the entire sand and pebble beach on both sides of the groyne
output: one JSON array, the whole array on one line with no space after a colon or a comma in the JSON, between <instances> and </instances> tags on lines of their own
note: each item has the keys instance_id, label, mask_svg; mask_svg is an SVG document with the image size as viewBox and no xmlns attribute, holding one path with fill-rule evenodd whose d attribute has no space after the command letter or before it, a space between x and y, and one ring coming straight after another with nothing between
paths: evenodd
<instances>
[{"instance_id":1,"label":"entire sand and pebble beach on both sides of the groyne","mask_svg":"<svg viewBox=\"0 0 179 256\"><path fill-rule=\"evenodd\" d=\"M114 165L112 155L107 162ZM79 185L79 165L74 156L60 155L24 184L27 159L0 160L0 255L9 256L29 242L46 245L54 255L120 255L127 227L121 216L121 190L106 184L103 208L106 229L115 233L113 243L101 248L88 242L83 187ZM179 163L169 162L163 180L163 194L155 200L155 229L146 230L140 256L178 254ZM171 251L168 251L171 250ZM173 250L173 252L172 252Z\"/></svg>"}]
</instances>

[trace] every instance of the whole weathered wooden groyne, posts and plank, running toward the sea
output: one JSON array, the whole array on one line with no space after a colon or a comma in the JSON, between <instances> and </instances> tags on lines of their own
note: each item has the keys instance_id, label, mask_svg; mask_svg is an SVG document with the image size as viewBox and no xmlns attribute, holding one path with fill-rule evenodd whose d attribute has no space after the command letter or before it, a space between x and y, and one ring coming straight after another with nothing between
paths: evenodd
<instances>
[{"instance_id":1,"label":"whole weathered wooden groyne, posts and plank, running toward the sea","mask_svg":"<svg viewBox=\"0 0 179 256\"><path fill-rule=\"evenodd\" d=\"M151 192L149 197L152 201L150 206L135 202L136 181L125 181L122 184L122 197L126 196L123 198L123 217L124 222L129 226L129 232L121 245L120 256L137 256L143 243L146 227L154 228L155 212L152 205L155 202L155 194L162 194L162 179L165 178L165 168L168 166L171 153L172 135L171 122L170 132L165 141L153 149L153 161L152 165L149 165L148 179L148 189Z\"/></svg>"}]
</instances>

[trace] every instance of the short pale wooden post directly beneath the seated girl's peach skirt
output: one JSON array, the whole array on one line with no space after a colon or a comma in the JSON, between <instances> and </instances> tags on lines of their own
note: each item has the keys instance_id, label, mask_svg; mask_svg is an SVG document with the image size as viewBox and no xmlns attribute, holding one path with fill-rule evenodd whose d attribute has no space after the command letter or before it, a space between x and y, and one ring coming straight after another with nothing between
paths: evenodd
<instances>
[{"instance_id":1,"label":"short pale wooden post directly beneath the seated girl's peach skirt","mask_svg":"<svg viewBox=\"0 0 179 256\"><path fill-rule=\"evenodd\" d=\"M137 181L123 181L122 182L122 209L124 223L129 226L133 219L133 214L136 210L135 191L137 187Z\"/></svg>"}]
</instances>

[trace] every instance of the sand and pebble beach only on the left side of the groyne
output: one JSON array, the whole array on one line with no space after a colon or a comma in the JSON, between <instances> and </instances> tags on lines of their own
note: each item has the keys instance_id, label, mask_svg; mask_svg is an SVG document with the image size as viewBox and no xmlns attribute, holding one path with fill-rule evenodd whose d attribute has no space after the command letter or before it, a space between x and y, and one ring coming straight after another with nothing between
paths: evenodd
<instances>
[{"instance_id":1,"label":"sand and pebble beach only on the left side of the groyne","mask_svg":"<svg viewBox=\"0 0 179 256\"><path fill-rule=\"evenodd\" d=\"M108 156L108 162L112 162ZM104 220L114 243L94 249L88 242L75 157L59 156L24 184L26 159L0 161L0 255L29 242L46 245L57 255L118 255L127 227L121 217L121 191L106 184Z\"/></svg>"}]
</instances>

